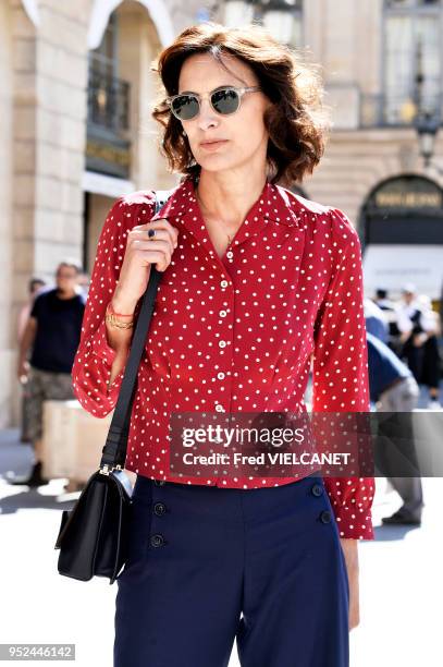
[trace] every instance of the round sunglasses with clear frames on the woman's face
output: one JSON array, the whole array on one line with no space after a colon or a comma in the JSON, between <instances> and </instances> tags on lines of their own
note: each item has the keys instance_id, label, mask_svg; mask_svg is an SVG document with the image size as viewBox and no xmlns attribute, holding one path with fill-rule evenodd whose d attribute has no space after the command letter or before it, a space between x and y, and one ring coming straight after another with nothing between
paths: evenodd
<instances>
[{"instance_id":1,"label":"round sunglasses with clear frames on the woman's face","mask_svg":"<svg viewBox=\"0 0 443 667\"><path fill-rule=\"evenodd\" d=\"M198 95L198 93L179 93L179 95L167 97L165 102L179 120L190 120L196 118L200 112L201 100L207 97L209 97L211 107L217 113L229 116L230 113L238 111L242 97L245 93L255 93L256 90L261 90L260 86L247 86L243 88L223 86L206 95Z\"/></svg>"}]
</instances>

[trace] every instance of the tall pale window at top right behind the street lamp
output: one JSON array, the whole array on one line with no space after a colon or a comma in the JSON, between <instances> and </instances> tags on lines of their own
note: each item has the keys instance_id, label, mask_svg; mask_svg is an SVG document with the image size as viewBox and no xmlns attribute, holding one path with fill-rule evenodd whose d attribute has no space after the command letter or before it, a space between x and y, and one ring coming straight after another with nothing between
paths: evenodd
<instances>
[{"instance_id":1,"label":"tall pale window at top right behind the street lamp","mask_svg":"<svg viewBox=\"0 0 443 667\"><path fill-rule=\"evenodd\" d=\"M417 105L422 73L421 106L436 113L442 93L441 0L386 0L384 53L384 120L407 123Z\"/></svg>"}]
</instances>

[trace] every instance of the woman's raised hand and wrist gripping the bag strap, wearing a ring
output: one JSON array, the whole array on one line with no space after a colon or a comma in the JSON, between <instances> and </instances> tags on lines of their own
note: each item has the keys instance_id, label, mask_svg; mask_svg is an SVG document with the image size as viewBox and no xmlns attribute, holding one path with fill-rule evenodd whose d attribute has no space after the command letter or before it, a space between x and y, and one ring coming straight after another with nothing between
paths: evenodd
<instances>
[{"instance_id":1,"label":"woman's raised hand and wrist gripping the bag strap, wearing a ring","mask_svg":"<svg viewBox=\"0 0 443 667\"><path fill-rule=\"evenodd\" d=\"M156 230L152 238L148 235L150 229ZM150 265L155 264L157 270L164 271L171 264L177 240L179 231L165 218L137 225L128 232L119 283L112 300L118 312L134 312L137 301L146 291Z\"/></svg>"}]
</instances>

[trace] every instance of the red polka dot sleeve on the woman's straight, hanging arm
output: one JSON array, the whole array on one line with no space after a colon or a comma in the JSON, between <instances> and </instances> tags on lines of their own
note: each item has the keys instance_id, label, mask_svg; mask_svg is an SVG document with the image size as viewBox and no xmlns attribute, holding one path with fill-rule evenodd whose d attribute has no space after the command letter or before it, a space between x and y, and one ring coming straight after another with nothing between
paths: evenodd
<instances>
[{"instance_id":1,"label":"red polka dot sleeve on the woman's straight, hanging arm","mask_svg":"<svg viewBox=\"0 0 443 667\"><path fill-rule=\"evenodd\" d=\"M335 257L315 330L313 412L369 412L360 243L340 209L329 213ZM324 477L341 537L373 539L373 477Z\"/></svg>"}]
</instances>

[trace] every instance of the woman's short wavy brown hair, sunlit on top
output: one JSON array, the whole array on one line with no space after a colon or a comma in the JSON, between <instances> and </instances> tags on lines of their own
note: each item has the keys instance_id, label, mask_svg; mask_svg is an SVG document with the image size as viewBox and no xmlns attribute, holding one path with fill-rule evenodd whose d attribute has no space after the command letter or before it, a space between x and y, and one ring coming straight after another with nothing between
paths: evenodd
<instances>
[{"instance_id":1,"label":"woman's short wavy brown hair, sunlit on top","mask_svg":"<svg viewBox=\"0 0 443 667\"><path fill-rule=\"evenodd\" d=\"M324 151L329 117L323 105L319 65L307 64L299 49L276 41L261 25L226 27L212 21L185 28L151 63L163 84L151 112L163 133L160 150L170 171L197 175L195 161L182 123L170 112L165 97L179 93L181 68L189 56L209 52L225 69L221 56L229 53L245 62L272 102L263 117L269 133L268 175L272 183L291 186L312 173Z\"/></svg>"}]
</instances>

